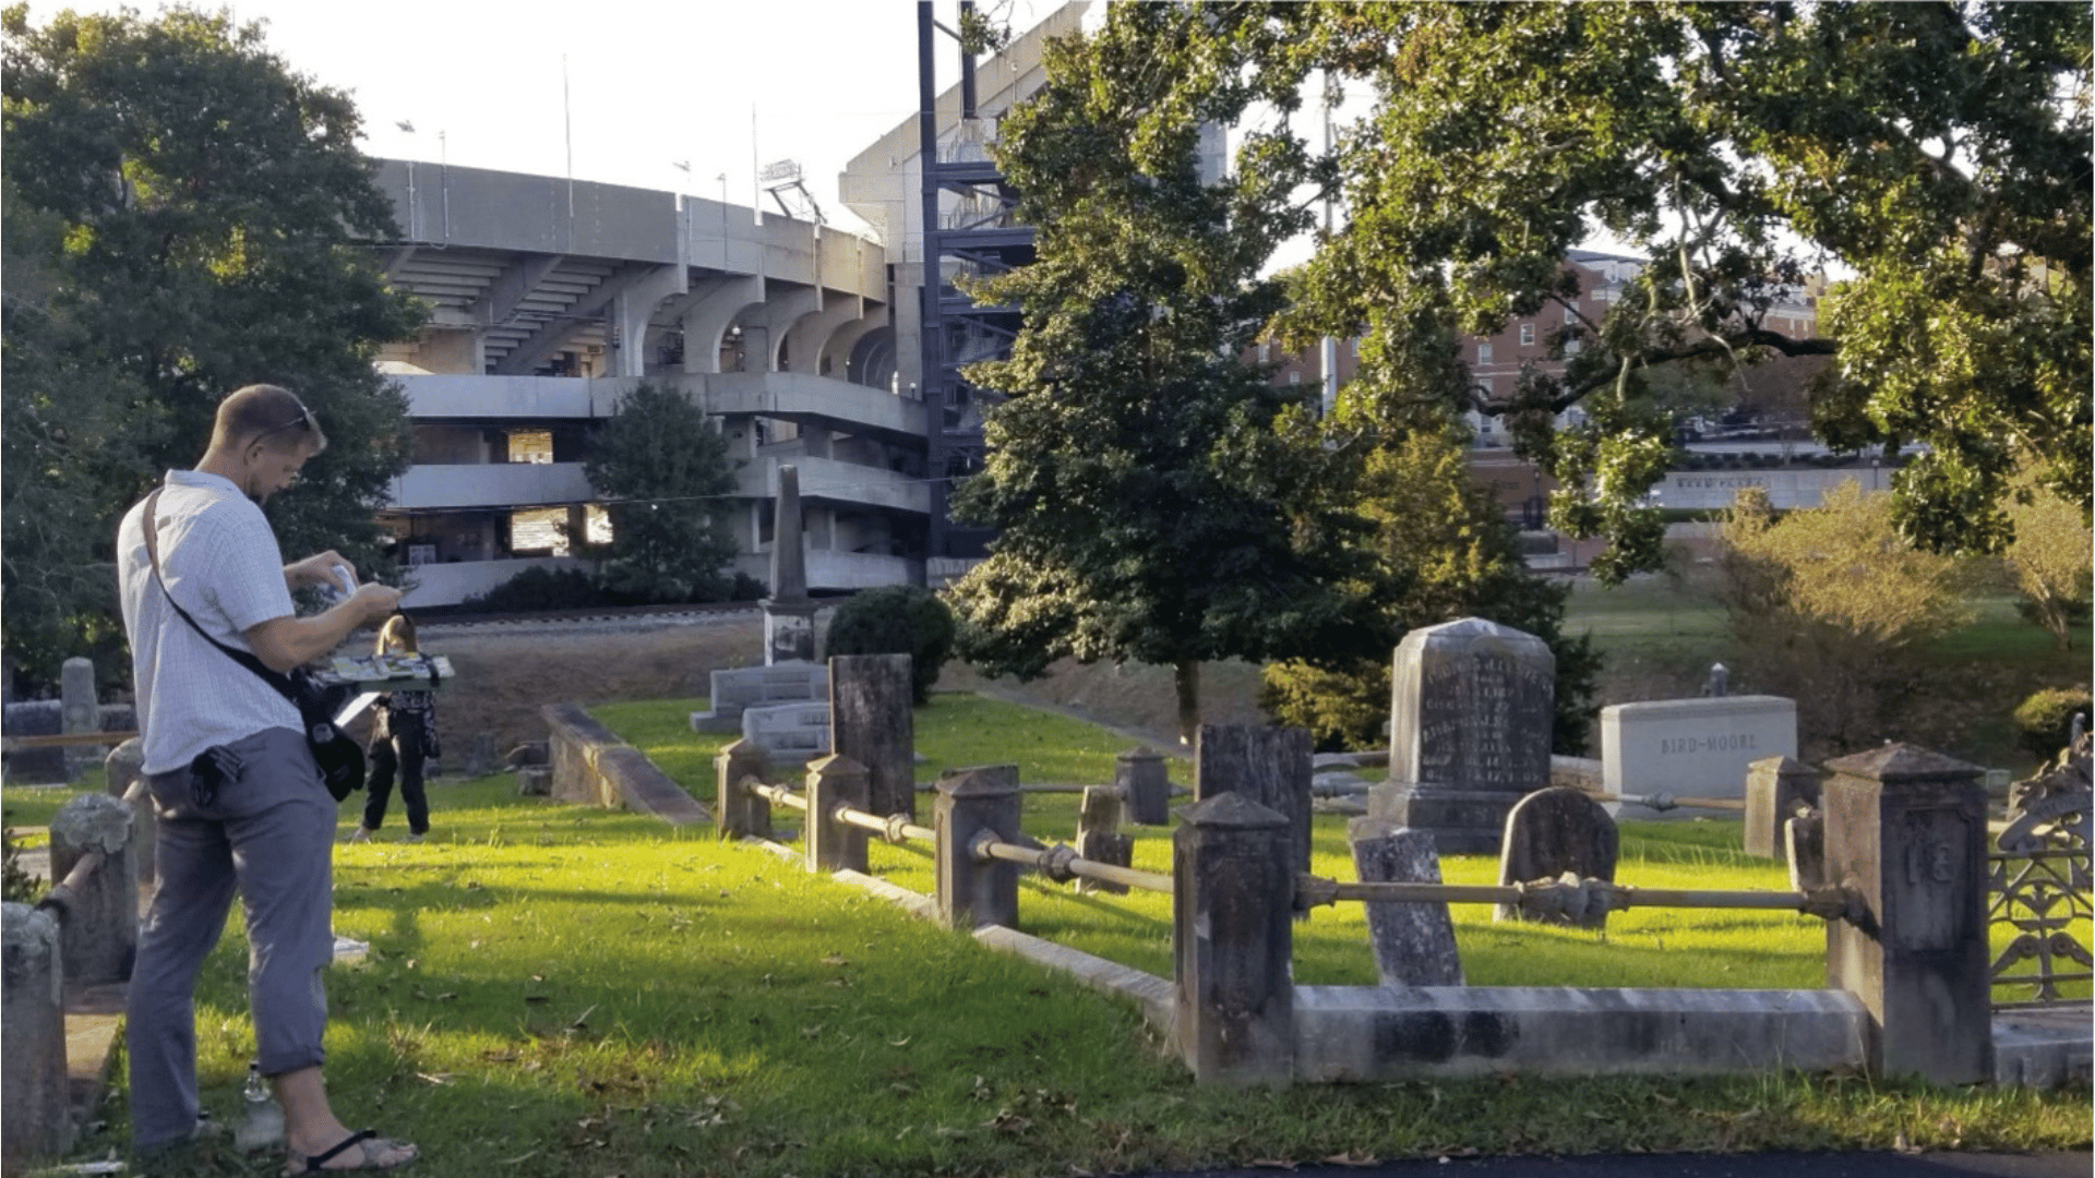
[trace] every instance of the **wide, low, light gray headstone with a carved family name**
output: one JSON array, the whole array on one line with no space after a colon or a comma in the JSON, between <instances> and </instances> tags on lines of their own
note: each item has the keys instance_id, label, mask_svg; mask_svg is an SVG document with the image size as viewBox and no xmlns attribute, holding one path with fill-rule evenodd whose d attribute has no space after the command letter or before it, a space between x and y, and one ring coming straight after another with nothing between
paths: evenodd
<instances>
[{"instance_id":1,"label":"wide, low, light gray headstone with a carved family name","mask_svg":"<svg viewBox=\"0 0 2095 1178\"><path fill-rule=\"evenodd\" d=\"M1781 696L1601 708L1601 773L1611 794L1743 799L1754 761L1795 755L1798 702Z\"/></svg>"}]
</instances>

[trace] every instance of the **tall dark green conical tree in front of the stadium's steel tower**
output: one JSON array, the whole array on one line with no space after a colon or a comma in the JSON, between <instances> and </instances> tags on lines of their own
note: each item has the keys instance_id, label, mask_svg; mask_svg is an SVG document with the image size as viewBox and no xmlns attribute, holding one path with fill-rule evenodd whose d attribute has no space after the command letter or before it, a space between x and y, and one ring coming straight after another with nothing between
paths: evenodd
<instances>
[{"instance_id":1,"label":"tall dark green conical tree in front of the stadium's steel tower","mask_svg":"<svg viewBox=\"0 0 2095 1178\"><path fill-rule=\"evenodd\" d=\"M972 291L1024 329L1010 361L968 369L1008 400L953 499L999 528L953 589L962 656L1020 677L1064 656L1173 667L1188 740L1203 660L1265 658L1341 606L1301 390L1238 358L1280 306L1259 270L1307 214L1286 168L1205 182L1198 105L1152 117L1169 84L1148 46L1192 21L1117 6L1096 40L1050 48L1048 86L1004 122L1037 262Z\"/></svg>"}]
</instances>

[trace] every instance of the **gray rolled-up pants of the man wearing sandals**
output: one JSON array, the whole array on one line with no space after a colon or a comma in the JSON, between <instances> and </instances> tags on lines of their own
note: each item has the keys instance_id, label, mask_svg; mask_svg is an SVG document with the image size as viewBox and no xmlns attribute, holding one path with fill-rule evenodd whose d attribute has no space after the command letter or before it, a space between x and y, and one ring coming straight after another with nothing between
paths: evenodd
<instances>
[{"instance_id":1,"label":"gray rolled-up pants of the man wearing sandals","mask_svg":"<svg viewBox=\"0 0 2095 1178\"><path fill-rule=\"evenodd\" d=\"M195 1132L197 970L226 929L235 891L247 914L247 1004L262 1073L325 1059L335 799L289 727L226 750L239 769L216 799L199 797L189 769L147 778L159 813L159 887L138 929L124 1019L132 1147L142 1153Z\"/></svg>"}]
</instances>

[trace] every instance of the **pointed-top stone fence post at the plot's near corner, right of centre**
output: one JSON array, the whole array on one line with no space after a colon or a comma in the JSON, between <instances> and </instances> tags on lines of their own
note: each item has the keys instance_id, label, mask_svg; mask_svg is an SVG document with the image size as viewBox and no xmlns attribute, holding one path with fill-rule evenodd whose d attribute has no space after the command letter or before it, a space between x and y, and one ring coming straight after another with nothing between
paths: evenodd
<instances>
[{"instance_id":1,"label":"pointed-top stone fence post at the plot's near corner, right of centre","mask_svg":"<svg viewBox=\"0 0 2095 1178\"><path fill-rule=\"evenodd\" d=\"M1288 820L1226 790L1171 834L1173 1038L1194 1079L1295 1079L1295 843Z\"/></svg>"}]
</instances>

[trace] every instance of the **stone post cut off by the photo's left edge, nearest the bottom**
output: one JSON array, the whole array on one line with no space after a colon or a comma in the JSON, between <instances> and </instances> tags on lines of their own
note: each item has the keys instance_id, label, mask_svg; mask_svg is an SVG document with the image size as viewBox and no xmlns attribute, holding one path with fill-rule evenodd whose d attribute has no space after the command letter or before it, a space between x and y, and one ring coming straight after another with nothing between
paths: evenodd
<instances>
[{"instance_id":1,"label":"stone post cut off by the photo's left edge, nearest the bottom","mask_svg":"<svg viewBox=\"0 0 2095 1178\"><path fill-rule=\"evenodd\" d=\"M73 1144L65 1073L65 966L59 922L27 903L0 912L0 1170Z\"/></svg>"}]
</instances>

